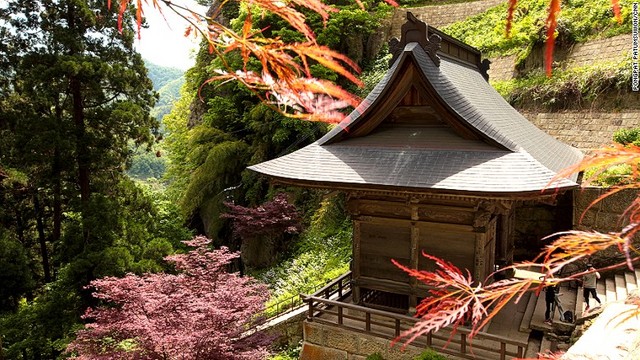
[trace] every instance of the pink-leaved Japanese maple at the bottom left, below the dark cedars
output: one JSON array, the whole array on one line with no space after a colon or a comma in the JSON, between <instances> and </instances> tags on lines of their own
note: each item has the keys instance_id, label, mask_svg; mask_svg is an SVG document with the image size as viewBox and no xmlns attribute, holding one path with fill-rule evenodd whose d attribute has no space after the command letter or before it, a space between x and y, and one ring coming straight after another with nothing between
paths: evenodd
<instances>
[{"instance_id":1,"label":"pink-leaved Japanese maple at the bottom left, below the dark cedars","mask_svg":"<svg viewBox=\"0 0 640 360\"><path fill-rule=\"evenodd\" d=\"M245 336L269 297L265 285L226 271L239 256L210 240L166 258L177 274L129 274L89 285L101 301L67 351L77 359L260 359L270 338Z\"/></svg>"}]
</instances>

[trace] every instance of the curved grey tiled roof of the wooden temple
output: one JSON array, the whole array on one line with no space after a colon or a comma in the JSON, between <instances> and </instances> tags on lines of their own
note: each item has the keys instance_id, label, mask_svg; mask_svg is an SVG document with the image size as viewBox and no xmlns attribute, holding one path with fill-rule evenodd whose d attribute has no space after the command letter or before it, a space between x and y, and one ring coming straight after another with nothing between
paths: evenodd
<instances>
[{"instance_id":1,"label":"curved grey tiled roof of the wooden temple","mask_svg":"<svg viewBox=\"0 0 640 360\"><path fill-rule=\"evenodd\" d=\"M451 128L388 127L351 138L376 102L393 91L401 64L413 61L437 99L482 140ZM490 145L491 144L491 145ZM418 43L402 55L363 105L318 142L250 169L289 182L321 187L402 189L477 194L533 193L545 189L582 153L559 142L513 109L477 67L442 57L436 65ZM577 175L576 175L577 176ZM572 179L554 187L573 187Z\"/></svg>"}]
</instances>

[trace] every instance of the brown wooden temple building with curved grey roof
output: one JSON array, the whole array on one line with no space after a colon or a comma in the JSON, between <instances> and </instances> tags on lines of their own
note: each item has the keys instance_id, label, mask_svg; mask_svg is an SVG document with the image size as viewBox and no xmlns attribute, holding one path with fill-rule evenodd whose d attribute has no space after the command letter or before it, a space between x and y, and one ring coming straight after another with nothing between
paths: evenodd
<instances>
[{"instance_id":1,"label":"brown wooden temple building with curved grey roof","mask_svg":"<svg viewBox=\"0 0 640 360\"><path fill-rule=\"evenodd\" d=\"M250 167L279 183L347 193L352 303L405 313L427 289L391 259L433 269L424 251L484 282L513 260L515 206L576 187L575 177L550 183L583 156L489 85L478 50L408 18L386 76L339 126Z\"/></svg>"}]
</instances>

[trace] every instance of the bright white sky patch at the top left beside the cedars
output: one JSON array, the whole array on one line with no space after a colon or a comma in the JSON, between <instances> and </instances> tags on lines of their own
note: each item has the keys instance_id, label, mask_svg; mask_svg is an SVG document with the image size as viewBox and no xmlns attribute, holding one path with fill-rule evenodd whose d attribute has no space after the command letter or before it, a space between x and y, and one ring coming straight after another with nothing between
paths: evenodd
<instances>
[{"instance_id":1,"label":"bright white sky patch at the top left beside the cedars","mask_svg":"<svg viewBox=\"0 0 640 360\"><path fill-rule=\"evenodd\" d=\"M173 3L201 13L206 11L192 0L173 0ZM186 70L194 63L193 49L200 43L200 38L196 39L193 35L185 38L186 22L169 9L163 8L162 13L166 21L153 7L144 8L149 27L142 29L142 39L135 42L136 49L143 58L154 64Z\"/></svg>"}]
</instances>

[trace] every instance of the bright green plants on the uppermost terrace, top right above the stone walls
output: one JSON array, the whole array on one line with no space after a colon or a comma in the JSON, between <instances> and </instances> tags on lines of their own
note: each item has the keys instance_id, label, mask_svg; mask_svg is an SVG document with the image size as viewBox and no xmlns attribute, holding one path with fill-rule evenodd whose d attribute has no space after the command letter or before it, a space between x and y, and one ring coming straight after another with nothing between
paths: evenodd
<instances>
[{"instance_id":1,"label":"bright green plants on the uppermost terrace, top right above the stone walls","mask_svg":"<svg viewBox=\"0 0 640 360\"><path fill-rule=\"evenodd\" d=\"M524 58L532 46L545 41L548 0L518 1L511 36L505 36L507 3L442 29L445 33L471 45L485 57L519 54ZM558 20L557 43L573 44L595 37L611 37L631 32L630 0L621 0L623 24L618 25L611 12L611 2L572 0L562 3Z\"/></svg>"}]
</instances>

